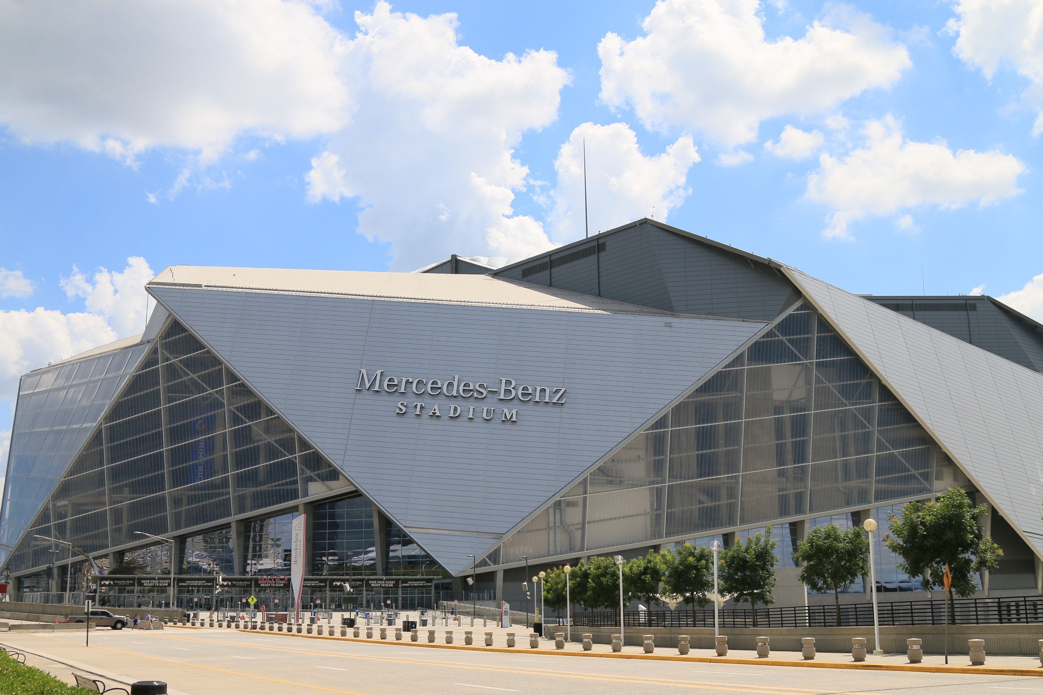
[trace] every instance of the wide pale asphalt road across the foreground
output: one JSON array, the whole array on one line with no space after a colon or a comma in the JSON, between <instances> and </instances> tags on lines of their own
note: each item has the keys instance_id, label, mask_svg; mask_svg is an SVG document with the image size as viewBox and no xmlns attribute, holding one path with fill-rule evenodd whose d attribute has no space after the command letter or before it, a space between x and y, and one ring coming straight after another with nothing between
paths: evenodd
<instances>
[{"instance_id":1,"label":"wide pale asphalt road across the foreground","mask_svg":"<svg viewBox=\"0 0 1043 695\"><path fill-rule=\"evenodd\" d=\"M91 666L121 679L166 680L172 693L664 692L826 695L1043 695L1043 677L854 671L583 659L426 649L397 643L324 642L223 629L18 634L0 642Z\"/></svg>"}]
</instances>

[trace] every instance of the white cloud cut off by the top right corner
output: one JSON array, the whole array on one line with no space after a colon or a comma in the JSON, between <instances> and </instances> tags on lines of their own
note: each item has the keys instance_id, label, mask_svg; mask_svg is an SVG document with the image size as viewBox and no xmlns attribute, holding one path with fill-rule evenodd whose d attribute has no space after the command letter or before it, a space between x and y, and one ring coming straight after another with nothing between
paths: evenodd
<instances>
[{"instance_id":1,"label":"white cloud cut off by the top right corner","mask_svg":"<svg viewBox=\"0 0 1043 695\"><path fill-rule=\"evenodd\" d=\"M1039 0L960 0L946 28L957 34L952 52L992 79L1004 65L1032 85L1025 97L1037 107L1033 134L1043 132L1043 4Z\"/></svg>"}]
</instances>

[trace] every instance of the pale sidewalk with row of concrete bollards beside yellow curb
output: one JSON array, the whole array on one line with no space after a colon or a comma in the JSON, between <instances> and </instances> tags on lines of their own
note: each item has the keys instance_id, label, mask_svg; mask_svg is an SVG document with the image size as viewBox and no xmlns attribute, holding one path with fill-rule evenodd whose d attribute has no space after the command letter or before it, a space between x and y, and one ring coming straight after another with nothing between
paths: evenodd
<instances>
[{"instance_id":1,"label":"pale sidewalk with row of concrete bollards beside yellow curb","mask_svg":"<svg viewBox=\"0 0 1043 695\"><path fill-rule=\"evenodd\" d=\"M202 629L181 625L171 625L176 629ZM580 657L601 657L601 659L638 659L652 661L682 661L693 663L720 663L720 664L749 664L759 666L792 666L802 668L838 668L838 669L869 669L879 671L923 671L938 673L979 673L989 675L1021 675L1021 676L1043 676L1043 667L1040 659L1036 656L1003 656L987 655L985 666L972 666L967 654L954 654L949 656L948 665L941 654L925 654L923 663L909 664L905 654L882 654L866 655L865 662L855 662L849 652L819 652L814 660L805 661L799 651L773 651L766 659L757 657L755 651L731 649L727 656L717 656L712 649L692 649L687 655L680 655L675 648L660 647L653 653L647 654L642 647L624 646L621 652L613 652L609 645L595 644L590 651L584 651L581 644L577 642L566 642L564 649L556 649L554 640L539 640L539 646L535 649L529 646L529 634L516 628L495 628L495 627L474 627L469 625L463 628L427 628L421 627L418 631L418 641L411 642L408 634L403 635L403 640L394 639L393 627L387 628L387 639L380 639L380 627L373 627L373 638L366 639L366 628L360 628L360 637L353 638L351 629L348 628L348 637L340 637L337 628L336 636L329 635L297 635L296 632L271 632L265 630L265 635L280 635L287 639L305 638L309 640L323 640L328 642L369 642L392 644L396 646L410 646L428 649L464 649L472 651L506 652L506 653L530 653L530 654L554 654L557 656L580 656ZM207 627L207 629L212 629ZM218 628L213 628L218 629ZM222 628L234 629L234 628ZM435 642L428 642L428 630L435 630ZM446 631L453 631L453 644L445 643ZM464 631L470 630L474 635L475 644L467 646L464 644ZM240 629L240 632L260 632L261 630ZM485 632L492 632L493 643L491 647L486 647ZM516 646L507 647L507 632L514 632ZM574 638L576 635L573 636Z\"/></svg>"}]
</instances>

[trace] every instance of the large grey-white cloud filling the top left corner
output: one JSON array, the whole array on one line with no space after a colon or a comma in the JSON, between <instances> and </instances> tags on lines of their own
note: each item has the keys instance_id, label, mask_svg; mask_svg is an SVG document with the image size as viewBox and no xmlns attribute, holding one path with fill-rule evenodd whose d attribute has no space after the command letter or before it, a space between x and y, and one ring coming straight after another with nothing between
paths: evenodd
<instances>
[{"instance_id":1,"label":"large grey-white cloud filling the top left corner","mask_svg":"<svg viewBox=\"0 0 1043 695\"><path fill-rule=\"evenodd\" d=\"M0 122L134 164L211 159L241 132L310 138L348 118L343 40L299 0L0 2Z\"/></svg>"}]
</instances>

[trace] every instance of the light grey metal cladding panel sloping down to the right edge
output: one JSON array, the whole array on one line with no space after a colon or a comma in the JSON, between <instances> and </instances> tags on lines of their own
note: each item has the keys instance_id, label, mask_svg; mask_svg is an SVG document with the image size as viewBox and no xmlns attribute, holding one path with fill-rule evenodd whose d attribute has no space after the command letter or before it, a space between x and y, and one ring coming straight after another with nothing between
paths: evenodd
<instances>
[{"instance_id":1,"label":"light grey metal cladding panel sloping down to the right edge","mask_svg":"<svg viewBox=\"0 0 1043 695\"><path fill-rule=\"evenodd\" d=\"M1043 375L789 272L975 485L1043 551Z\"/></svg>"}]
</instances>

